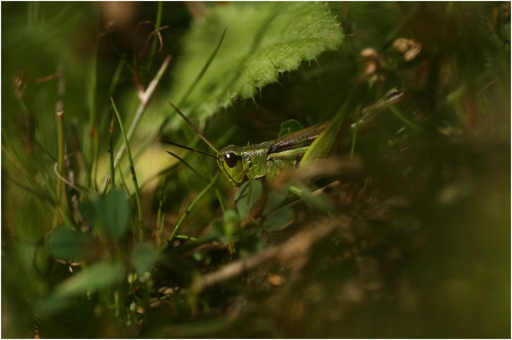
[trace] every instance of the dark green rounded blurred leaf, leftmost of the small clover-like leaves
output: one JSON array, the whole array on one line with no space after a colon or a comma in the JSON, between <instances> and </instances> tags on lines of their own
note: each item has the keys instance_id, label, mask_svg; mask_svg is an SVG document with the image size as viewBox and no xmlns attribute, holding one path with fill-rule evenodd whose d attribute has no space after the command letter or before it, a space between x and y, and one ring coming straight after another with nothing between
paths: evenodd
<instances>
[{"instance_id":1,"label":"dark green rounded blurred leaf, leftmost of the small clover-like leaves","mask_svg":"<svg viewBox=\"0 0 512 340\"><path fill-rule=\"evenodd\" d=\"M52 231L47 244L52 256L66 261L76 261L84 256L87 243L90 241L89 234L62 227Z\"/></svg>"}]
</instances>

